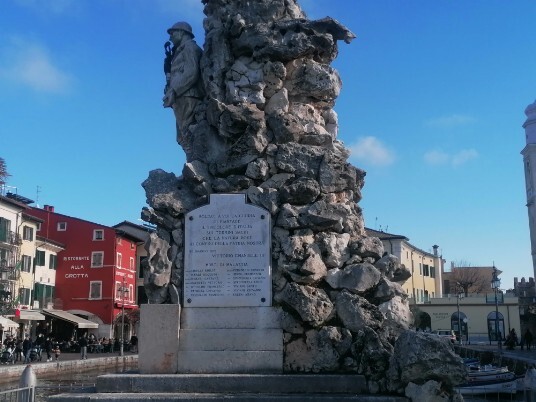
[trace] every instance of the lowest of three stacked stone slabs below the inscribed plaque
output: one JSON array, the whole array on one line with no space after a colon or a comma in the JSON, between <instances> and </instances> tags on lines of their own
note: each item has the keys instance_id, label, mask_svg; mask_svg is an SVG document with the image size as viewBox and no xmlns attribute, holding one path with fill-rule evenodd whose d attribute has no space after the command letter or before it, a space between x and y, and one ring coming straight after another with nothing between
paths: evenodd
<instances>
[{"instance_id":1,"label":"lowest of three stacked stone slabs below the inscribed plaque","mask_svg":"<svg viewBox=\"0 0 536 402\"><path fill-rule=\"evenodd\" d=\"M178 372L210 373L282 373L282 351L179 350Z\"/></svg>"}]
</instances>

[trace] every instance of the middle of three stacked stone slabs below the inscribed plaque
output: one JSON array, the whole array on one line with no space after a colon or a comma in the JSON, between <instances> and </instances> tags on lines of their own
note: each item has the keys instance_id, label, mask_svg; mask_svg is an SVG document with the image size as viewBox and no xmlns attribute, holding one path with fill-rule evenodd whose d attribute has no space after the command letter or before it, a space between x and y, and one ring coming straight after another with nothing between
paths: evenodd
<instances>
[{"instance_id":1,"label":"middle of three stacked stone slabs below the inscribed plaque","mask_svg":"<svg viewBox=\"0 0 536 402\"><path fill-rule=\"evenodd\" d=\"M283 350L280 329L181 329L179 350Z\"/></svg>"}]
</instances>

